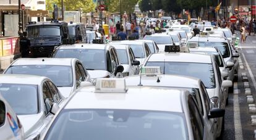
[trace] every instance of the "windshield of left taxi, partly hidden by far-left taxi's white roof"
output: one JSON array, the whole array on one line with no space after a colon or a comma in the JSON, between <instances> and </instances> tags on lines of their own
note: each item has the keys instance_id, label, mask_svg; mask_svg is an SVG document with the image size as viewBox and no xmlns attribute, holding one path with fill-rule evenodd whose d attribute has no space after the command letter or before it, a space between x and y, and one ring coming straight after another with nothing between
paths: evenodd
<instances>
[{"instance_id":1,"label":"windshield of left taxi, partly hidden by far-left taxi's white roof","mask_svg":"<svg viewBox=\"0 0 256 140\"><path fill-rule=\"evenodd\" d=\"M72 67L66 65L12 65L5 74L46 76L58 87L72 87Z\"/></svg>"}]
</instances>

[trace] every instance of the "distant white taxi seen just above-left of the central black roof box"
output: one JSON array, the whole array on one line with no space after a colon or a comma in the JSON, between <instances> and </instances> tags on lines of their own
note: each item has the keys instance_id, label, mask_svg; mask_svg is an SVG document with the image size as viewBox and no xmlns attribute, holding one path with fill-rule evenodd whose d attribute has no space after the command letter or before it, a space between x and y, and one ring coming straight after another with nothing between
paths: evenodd
<instances>
[{"instance_id":1,"label":"distant white taxi seen just above-left of the central black roof box","mask_svg":"<svg viewBox=\"0 0 256 140\"><path fill-rule=\"evenodd\" d=\"M153 35L145 35L145 40L153 40L159 47L159 51L163 52L164 47L166 45L174 45L173 39L171 36L166 34L153 34Z\"/></svg>"}]
</instances>

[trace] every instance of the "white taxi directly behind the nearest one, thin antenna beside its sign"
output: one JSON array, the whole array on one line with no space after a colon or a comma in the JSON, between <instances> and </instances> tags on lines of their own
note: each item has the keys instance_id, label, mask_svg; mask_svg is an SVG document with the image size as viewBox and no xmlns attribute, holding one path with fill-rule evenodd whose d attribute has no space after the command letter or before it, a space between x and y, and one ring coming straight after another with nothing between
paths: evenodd
<instances>
[{"instance_id":1,"label":"white taxi directly behind the nearest one, thin antenna beside its sign","mask_svg":"<svg viewBox=\"0 0 256 140\"><path fill-rule=\"evenodd\" d=\"M142 72L137 76L126 77L127 86L157 86L169 87L173 89L186 89L193 94L198 103L199 112L202 113L205 126L208 131L213 134L214 138L218 138L218 129L224 131L224 127L220 128L216 123L216 118L208 118L211 102L205 89L204 84L198 78L182 75L163 75L160 73L160 67L142 67ZM223 133L223 131L221 131Z\"/></svg>"}]
</instances>

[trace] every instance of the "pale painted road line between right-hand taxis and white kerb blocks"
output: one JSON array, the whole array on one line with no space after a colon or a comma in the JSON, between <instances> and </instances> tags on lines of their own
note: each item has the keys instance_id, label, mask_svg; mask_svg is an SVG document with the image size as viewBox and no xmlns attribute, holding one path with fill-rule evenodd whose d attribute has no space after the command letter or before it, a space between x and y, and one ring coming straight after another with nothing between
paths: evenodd
<instances>
[{"instance_id":1,"label":"pale painted road line between right-hand taxis and white kerb blocks","mask_svg":"<svg viewBox=\"0 0 256 140\"><path fill-rule=\"evenodd\" d=\"M237 82L234 83L234 89L237 89ZM236 140L243 140L242 136L242 125L241 125L241 115L240 115L240 106L238 101L238 93L236 92L233 94L233 101L234 101L234 130L235 130L235 139Z\"/></svg>"}]
</instances>

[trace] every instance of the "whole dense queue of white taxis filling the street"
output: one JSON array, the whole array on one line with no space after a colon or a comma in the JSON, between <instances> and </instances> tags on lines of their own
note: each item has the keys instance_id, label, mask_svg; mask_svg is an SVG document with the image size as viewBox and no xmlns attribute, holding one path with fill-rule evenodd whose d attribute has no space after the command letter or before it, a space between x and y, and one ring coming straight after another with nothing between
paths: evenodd
<instances>
[{"instance_id":1,"label":"whole dense queue of white taxis filling the street","mask_svg":"<svg viewBox=\"0 0 256 140\"><path fill-rule=\"evenodd\" d=\"M175 25L14 60L0 75L1 139L221 138L238 73L236 36L187 31Z\"/></svg>"}]
</instances>

